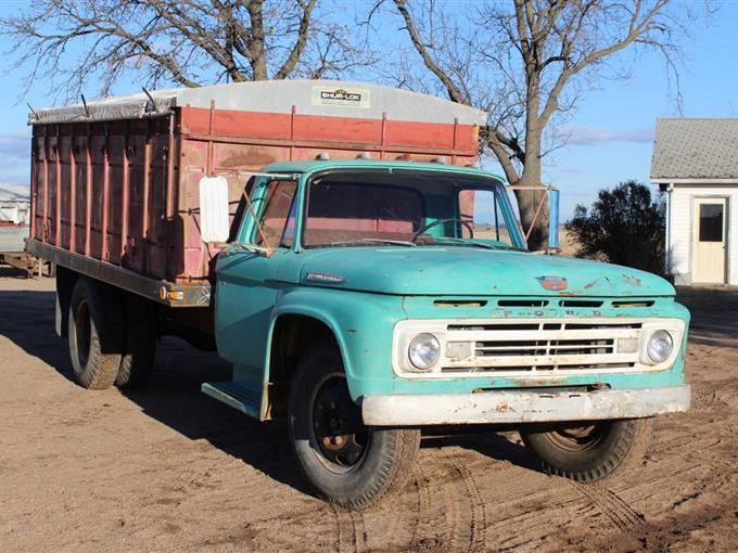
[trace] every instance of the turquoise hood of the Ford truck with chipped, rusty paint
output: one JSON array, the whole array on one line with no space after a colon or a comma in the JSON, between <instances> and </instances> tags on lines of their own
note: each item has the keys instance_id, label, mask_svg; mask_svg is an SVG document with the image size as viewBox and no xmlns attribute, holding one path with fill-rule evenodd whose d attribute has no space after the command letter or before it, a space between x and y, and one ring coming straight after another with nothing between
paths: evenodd
<instances>
[{"instance_id":1,"label":"turquoise hood of the Ford truck with chipped, rusty paint","mask_svg":"<svg viewBox=\"0 0 738 553\"><path fill-rule=\"evenodd\" d=\"M472 247L313 249L301 269L307 285L428 296L673 296L644 271L569 257ZM564 282L565 280L565 282ZM563 287L565 286L565 287Z\"/></svg>"}]
</instances>

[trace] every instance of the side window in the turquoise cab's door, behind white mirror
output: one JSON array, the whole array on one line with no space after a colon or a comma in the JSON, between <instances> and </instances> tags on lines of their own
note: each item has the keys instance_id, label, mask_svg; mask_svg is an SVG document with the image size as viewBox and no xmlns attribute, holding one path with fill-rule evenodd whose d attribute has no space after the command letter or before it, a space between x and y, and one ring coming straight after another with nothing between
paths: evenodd
<instances>
[{"instance_id":1,"label":"side window in the turquoise cab's door, behind white mirror","mask_svg":"<svg viewBox=\"0 0 738 553\"><path fill-rule=\"evenodd\" d=\"M292 180L276 180L267 187L262 209L264 236L256 229L254 243L258 246L291 247L295 239L294 198L297 183Z\"/></svg>"}]
</instances>

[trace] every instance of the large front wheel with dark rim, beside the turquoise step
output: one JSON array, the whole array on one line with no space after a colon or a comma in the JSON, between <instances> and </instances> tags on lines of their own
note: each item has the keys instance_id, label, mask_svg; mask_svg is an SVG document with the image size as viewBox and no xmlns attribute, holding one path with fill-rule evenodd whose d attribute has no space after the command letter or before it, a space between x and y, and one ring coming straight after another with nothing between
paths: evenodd
<instances>
[{"instance_id":1,"label":"large front wheel with dark rim, beside the turquoise step","mask_svg":"<svg viewBox=\"0 0 738 553\"><path fill-rule=\"evenodd\" d=\"M402 489L420 445L420 430L364 424L332 340L318 344L301 360L290 391L289 426L307 481L348 509L365 507Z\"/></svg>"}]
</instances>

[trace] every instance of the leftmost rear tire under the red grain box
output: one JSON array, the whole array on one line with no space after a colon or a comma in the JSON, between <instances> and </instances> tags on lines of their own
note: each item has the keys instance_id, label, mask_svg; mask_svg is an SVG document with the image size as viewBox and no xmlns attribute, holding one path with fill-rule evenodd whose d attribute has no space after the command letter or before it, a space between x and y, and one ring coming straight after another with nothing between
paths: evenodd
<instances>
[{"instance_id":1,"label":"leftmost rear tire under the red grain box","mask_svg":"<svg viewBox=\"0 0 738 553\"><path fill-rule=\"evenodd\" d=\"M69 359L74 380L84 388L113 385L123 351L123 307L115 288L77 279L68 316Z\"/></svg>"}]
</instances>

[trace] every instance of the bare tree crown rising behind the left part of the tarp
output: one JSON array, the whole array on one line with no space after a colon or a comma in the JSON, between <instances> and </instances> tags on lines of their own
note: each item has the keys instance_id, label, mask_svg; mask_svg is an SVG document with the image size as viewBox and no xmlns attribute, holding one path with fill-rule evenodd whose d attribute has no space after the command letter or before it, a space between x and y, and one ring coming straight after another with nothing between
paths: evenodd
<instances>
[{"instance_id":1,"label":"bare tree crown rising behind the left part of the tarp","mask_svg":"<svg viewBox=\"0 0 738 553\"><path fill-rule=\"evenodd\" d=\"M125 75L157 88L323 77L368 62L318 0L38 0L0 20L7 55L64 100ZM37 86L37 85L36 85Z\"/></svg>"}]
</instances>

